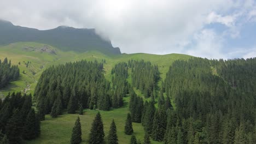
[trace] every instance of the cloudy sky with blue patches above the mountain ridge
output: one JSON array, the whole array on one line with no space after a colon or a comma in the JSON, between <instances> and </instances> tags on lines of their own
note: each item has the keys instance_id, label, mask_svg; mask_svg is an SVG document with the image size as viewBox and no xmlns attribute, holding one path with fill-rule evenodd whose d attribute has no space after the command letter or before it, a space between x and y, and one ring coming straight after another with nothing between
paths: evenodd
<instances>
[{"instance_id":1,"label":"cloudy sky with blue patches above the mountain ridge","mask_svg":"<svg viewBox=\"0 0 256 144\"><path fill-rule=\"evenodd\" d=\"M96 28L125 53L256 57L254 0L9 0L0 5L0 19L14 25Z\"/></svg>"}]
</instances>

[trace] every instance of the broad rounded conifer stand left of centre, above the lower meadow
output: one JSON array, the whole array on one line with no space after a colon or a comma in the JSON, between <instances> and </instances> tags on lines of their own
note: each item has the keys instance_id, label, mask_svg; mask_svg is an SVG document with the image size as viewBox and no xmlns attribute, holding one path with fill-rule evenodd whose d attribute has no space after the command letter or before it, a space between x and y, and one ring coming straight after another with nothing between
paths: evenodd
<instances>
[{"instance_id":1,"label":"broad rounded conifer stand left of centre, above the lower meadow","mask_svg":"<svg viewBox=\"0 0 256 144\"><path fill-rule=\"evenodd\" d=\"M109 110L113 92L103 75L102 63L80 61L46 69L34 94L43 120L45 114L57 117L63 109L68 113L85 108Z\"/></svg>"}]
</instances>

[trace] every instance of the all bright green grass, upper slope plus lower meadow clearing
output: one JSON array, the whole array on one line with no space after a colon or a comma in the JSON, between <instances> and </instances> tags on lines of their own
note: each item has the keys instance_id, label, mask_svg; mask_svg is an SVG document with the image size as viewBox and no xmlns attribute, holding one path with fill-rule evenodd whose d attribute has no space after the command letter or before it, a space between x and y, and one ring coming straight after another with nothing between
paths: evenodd
<instances>
[{"instance_id":1,"label":"all bright green grass, upper slope plus lower meadow clearing","mask_svg":"<svg viewBox=\"0 0 256 144\"><path fill-rule=\"evenodd\" d=\"M103 53L90 51L84 53L77 53L72 51L61 51L55 47L50 47L51 50L56 52L45 53L45 52L36 52L28 51L23 49L24 47L43 47L44 44L38 43L14 43L7 46L0 46L0 59L8 57L11 59L13 64L18 64L20 68L20 80L11 82L8 87L0 89L0 95L7 94L8 92L13 91L23 91L26 89L26 92L33 93L34 88L36 87L37 80L42 74L42 71L51 65L64 64L66 62L80 61L86 59L88 61L100 61L106 59L106 64L104 64L105 76L108 80L111 80L110 71L115 64L119 62L129 61L129 59L150 61L153 64L158 64L161 77L165 79L165 74L176 59L188 59L191 56L188 55L179 55L179 54L170 54L170 55L150 55L147 53L135 53L135 54L122 54L122 55L104 55ZM30 61L31 63L26 67L24 63ZM22 73L25 71L25 74ZM130 74L130 70L129 70ZM131 81L130 76L128 81ZM159 82L160 85L161 82ZM114 109L111 111L101 111L101 115L104 123L104 131L107 136L110 123L112 119L115 119L117 125L119 143L129 143L130 137L124 134L124 124L126 115L128 112L127 103L129 103L129 97L124 98L126 105L120 109ZM82 122L82 133L83 133L83 143L86 143L89 136L89 131L91 128L92 120L96 115L96 110L84 110L85 114L80 116ZM38 139L32 141L26 141L26 143L69 143L69 139L72 133L72 128L74 126L75 119L78 115L69 115L64 114L58 118L51 118L49 115L46 116L46 120L42 121L42 134ZM144 130L141 124L133 123L133 129L137 139L143 141ZM152 143L159 143L152 141Z\"/></svg>"}]
</instances>

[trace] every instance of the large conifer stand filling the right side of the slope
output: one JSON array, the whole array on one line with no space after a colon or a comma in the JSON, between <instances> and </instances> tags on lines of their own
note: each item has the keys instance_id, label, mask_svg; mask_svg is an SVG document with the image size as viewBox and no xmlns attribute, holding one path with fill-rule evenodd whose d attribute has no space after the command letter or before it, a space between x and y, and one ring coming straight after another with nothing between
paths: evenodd
<instances>
[{"instance_id":1,"label":"large conifer stand filling the right side of the slope","mask_svg":"<svg viewBox=\"0 0 256 144\"><path fill-rule=\"evenodd\" d=\"M160 141L256 143L255 65L256 58L174 62L163 90L176 109L166 111Z\"/></svg>"}]
</instances>

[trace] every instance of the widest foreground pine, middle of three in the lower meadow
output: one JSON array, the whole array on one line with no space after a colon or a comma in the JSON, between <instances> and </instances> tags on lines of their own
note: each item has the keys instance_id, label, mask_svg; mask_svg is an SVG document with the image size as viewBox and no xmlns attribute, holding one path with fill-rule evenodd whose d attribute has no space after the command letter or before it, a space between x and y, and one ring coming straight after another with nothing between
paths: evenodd
<instances>
[{"instance_id":1,"label":"widest foreground pine, middle of three in the lower meadow","mask_svg":"<svg viewBox=\"0 0 256 144\"><path fill-rule=\"evenodd\" d=\"M91 125L91 133L89 135L89 143L90 144L102 144L104 143L104 129L103 122L101 119L100 112L95 116L94 122Z\"/></svg>"}]
</instances>

